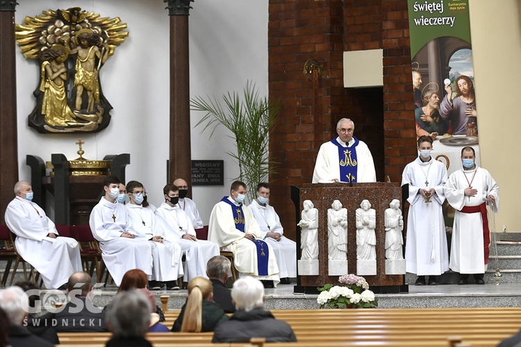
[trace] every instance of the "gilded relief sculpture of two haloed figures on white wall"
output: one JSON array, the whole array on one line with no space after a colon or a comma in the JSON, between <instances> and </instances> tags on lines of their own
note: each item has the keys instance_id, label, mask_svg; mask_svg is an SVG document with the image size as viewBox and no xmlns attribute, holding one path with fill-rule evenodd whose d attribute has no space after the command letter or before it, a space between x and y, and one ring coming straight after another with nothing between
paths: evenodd
<instances>
[{"instance_id":1,"label":"gilded relief sculpture of two haloed figures on white wall","mask_svg":"<svg viewBox=\"0 0 521 347\"><path fill-rule=\"evenodd\" d=\"M96 133L108 126L112 106L99 71L129 36L124 29L118 17L78 7L43 11L16 25L20 50L40 65L29 126L40 133Z\"/></svg>"}]
</instances>

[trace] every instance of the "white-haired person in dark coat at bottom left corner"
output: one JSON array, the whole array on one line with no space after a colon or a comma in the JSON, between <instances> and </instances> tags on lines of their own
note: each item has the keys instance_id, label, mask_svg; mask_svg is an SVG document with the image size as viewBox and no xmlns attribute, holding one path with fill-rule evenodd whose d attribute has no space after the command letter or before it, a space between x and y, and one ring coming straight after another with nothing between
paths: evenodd
<instances>
[{"instance_id":1,"label":"white-haired person in dark coat at bottom left corner","mask_svg":"<svg viewBox=\"0 0 521 347\"><path fill-rule=\"evenodd\" d=\"M0 330L9 331L9 345L12 347L54 346L49 341L33 335L23 326L24 319L27 316L24 307L27 308L28 305L29 299L22 288L14 286L0 290L0 308L9 319L9 324L0 325Z\"/></svg>"}]
</instances>

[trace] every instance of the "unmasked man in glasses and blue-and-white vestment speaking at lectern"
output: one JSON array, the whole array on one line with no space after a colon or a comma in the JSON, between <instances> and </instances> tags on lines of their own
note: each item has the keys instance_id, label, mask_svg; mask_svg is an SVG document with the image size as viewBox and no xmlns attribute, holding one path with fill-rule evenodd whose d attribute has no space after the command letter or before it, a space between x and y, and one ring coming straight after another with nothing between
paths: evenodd
<instances>
[{"instance_id":1,"label":"unmasked man in glasses and blue-and-white vestment speaking at lectern","mask_svg":"<svg viewBox=\"0 0 521 347\"><path fill-rule=\"evenodd\" d=\"M376 182L371 151L365 142L353 136L354 122L340 119L336 133L337 137L320 146L313 183Z\"/></svg>"}]
</instances>

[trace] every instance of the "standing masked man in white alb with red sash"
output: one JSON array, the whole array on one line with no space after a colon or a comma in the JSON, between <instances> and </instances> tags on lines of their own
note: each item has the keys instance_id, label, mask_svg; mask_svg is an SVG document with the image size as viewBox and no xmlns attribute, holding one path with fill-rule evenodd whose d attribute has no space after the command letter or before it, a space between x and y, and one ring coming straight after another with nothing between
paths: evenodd
<instances>
[{"instance_id":1,"label":"standing masked man in white alb with red sash","mask_svg":"<svg viewBox=\"0 0 521 347\"><path fill-rule=\"evenodd\" d=\"M460 273L458 285L465 285L471 273L478 285L485 284L490 246L486 205L494 213L499 208L499 187L475 160L474 149L464 147L463 169L453 172L444 187L447 201L456 210L449 265L452 271Z\"/></svg>"}]
</instances>

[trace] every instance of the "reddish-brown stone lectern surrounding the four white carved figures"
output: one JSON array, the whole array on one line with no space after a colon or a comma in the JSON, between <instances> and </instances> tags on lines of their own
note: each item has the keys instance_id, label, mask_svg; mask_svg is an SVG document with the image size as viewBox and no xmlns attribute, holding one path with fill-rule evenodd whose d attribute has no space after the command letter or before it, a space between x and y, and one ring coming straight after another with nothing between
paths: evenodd
<instances>
[{"instance_id":1,"label":"reddish-brown stone lectern surrounding the four white carved figures","mask_svg":"<svg viewBox=\"0 0 521 347\"><path fill-rule=\"evenodd\" d=\"M342 203L342 208L347 209L347 262L348 269L345 274L357 273L356 260L356 209L364 199L371 203L371 208L376 210L376 253L377 274L375 276L363 276L375 293L396 293L408 291L404 285L404 275L386 275L386 228L384 225L385 211L393 199L402 202L402 188L398 183L315 183L299 187L291 187L291 198L295 203L295 221L298 225L303 210L303 202L311 200L318 210L318 275L297 275L295 292L315 293L317 287L326 283L339 284L338 276L329 276L328 269L328 229L327 210L335 200ZM400 203L400 205L402 205ZM403 213L403 211L402 211ZM301 258L301 228L297 226L297 260ZM405 249L405 248L404 248Z\"/></svg>"}]
</instances>

